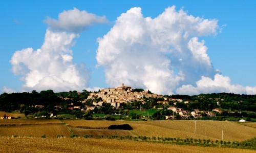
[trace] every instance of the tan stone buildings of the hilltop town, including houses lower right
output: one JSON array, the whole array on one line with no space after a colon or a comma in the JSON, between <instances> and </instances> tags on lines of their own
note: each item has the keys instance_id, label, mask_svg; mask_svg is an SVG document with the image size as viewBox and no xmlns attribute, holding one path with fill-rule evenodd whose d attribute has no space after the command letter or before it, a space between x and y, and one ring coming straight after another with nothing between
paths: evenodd
<instances>
[{"instance_id":1,"label":"tan stone buildings of the hilltop town, including houses lower right","mask_svg":"<svg viewBox=\"0 0 256 153\"><path fill-rule=\"evenodd\" d=\"M108 88L108 89L101 89L98 93L90 93L88 96L88 99L96 99L101 98L102 101L94 102L96 106L102 106L102 103L110 103L112 106L119 108L120 103L129 103L133 101L139 101L142 104L145 103L144 98L156 98L156 99L164 99L159 100L157 103L163 104L163 105L169 105L169 101L173 101L174 105L176 105L177 102L183 102L182 99L175 99L175 98L168 98L164 97L162 95L152 94L149 91L141 91L141 92L133 92L133 89L131 86L124 86L122 83L121 86L116 88ZM184 103L189 103L189 101L185 101ZM158 110L162 110L163 108L158 108ZM207 116L216 116L216 114L211 112L205 112L205 111L199 111L198 109L195 109L194 111L185 111L183 108L177 108L175 106L169 106L167 110L172 110L173 113L179 114L181 118L190 118L193 116L194 118L202 117L202 113L205 113ZM212 111L222 113L222 111L219 108L215 108ZM199 114L200 113L200 114ZM165 119L176 119L176 116L165 116Z\"/></svg>"}]
</instances>

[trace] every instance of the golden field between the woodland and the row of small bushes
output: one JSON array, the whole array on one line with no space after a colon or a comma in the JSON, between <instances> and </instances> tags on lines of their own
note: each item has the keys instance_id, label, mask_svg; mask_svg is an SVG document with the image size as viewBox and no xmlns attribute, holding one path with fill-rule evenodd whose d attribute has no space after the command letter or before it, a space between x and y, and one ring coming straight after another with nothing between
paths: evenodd
<instances>
[{"instance_id":1,"label":"golden field between the woodland and the row of small bushes","mask_svg":"<svg viewBox=\"0 0 256 153\"><path fill-rule=\"evenodd\" d=\"M133 130L108 130L113 124L129 124ZM246 124L247 126L243 125ZM251 127L252 126L252 127ZM255 123L228 122L228 121L195 121L193 120L164 120L164 121L106 121L106 120L58 120L58 119L2 119L0 120L0 136L11 137L33 136L47 137L72 134L111 136L146 136L146 137L172 137L194 139L221 139L223 130L224 141L244 141L256 137Z\"/></svg>"}]
</instances>

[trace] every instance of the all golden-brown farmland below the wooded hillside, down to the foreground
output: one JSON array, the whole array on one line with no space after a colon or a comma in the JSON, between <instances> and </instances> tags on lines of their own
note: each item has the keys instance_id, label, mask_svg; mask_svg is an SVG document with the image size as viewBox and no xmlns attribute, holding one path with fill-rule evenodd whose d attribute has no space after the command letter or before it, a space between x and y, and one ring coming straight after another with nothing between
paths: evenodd
<instances>
[{"instance_id":1,"label":"all golden-brown farmland below the wooded hillside, down to the foreground","mask_svg":"<svg viewBox=\"0 0 256 153\"><path fill-rule=\"evenodd\" d=\"M113 124L129 124L133 130L109 130ZM243 125L246 124L246 125ZM228 121L106 121L106 120L58 120L58 119L12 119L0 120L1 152L255 152L254 150L202 147L202 145L176 145L148 138L179 138L244 141L256 137L255 123ZM77 138L70 138L71 135ZM45 136L46 138L41 138ZM61 136L61 138L57 138ZM88 136L88 139L86 139ZM100 137L99 137L100 136ZM116 136L115 139L110 139ZM131 139L123 139L130 136ZM90 139L89 139L90 138ZM136 138L136 139L135 139ZM134 141L136 140L136 141ZM35 143L36 142L36 143ZM161 143L162 142L162 143ZM184 141L183 141L184 142ZM172 141L173 143L173 141ZM184 143L183 143L184 144ZM186 144L186 143L185 143ZM208 146L212 146L207 144ZM15 146L15 147L14 147ZM218 146L217 144L213 146ZM229 145L230 146L230 145ZM41 150L42 149L42 150Z\"/></svg>"}]
</instances>

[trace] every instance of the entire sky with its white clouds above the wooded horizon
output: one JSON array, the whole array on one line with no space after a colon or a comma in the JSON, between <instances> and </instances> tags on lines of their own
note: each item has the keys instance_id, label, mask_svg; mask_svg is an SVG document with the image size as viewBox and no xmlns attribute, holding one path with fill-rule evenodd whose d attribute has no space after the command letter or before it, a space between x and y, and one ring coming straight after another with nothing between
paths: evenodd
<instances>
[{"instance_id":1,"label":"entire sky with its white clouds above the wooded horizon","mask_svg":"<svg viewBox=\"0 0 256 153\"><path fill-rule=\"evenodd\" d=\"M0 94L256 94L255 1L0 0Z\"/></svg>"}]
</instances>

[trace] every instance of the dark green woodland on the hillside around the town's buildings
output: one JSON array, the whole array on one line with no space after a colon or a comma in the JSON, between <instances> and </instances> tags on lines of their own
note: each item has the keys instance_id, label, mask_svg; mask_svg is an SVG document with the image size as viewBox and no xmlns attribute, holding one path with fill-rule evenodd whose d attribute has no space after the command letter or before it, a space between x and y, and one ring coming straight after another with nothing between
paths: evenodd
<instances>
[{"instance_id":1,"label":"dark green woodland on the hillside around the town's buildings","mask_svg":"<svg viewBox=\"0 0 256 153\"><path fill-rule=\"evenodd\" d=\"M135 89L134 91L140 92L141 89ZM152 119L159 119L159 114L162 114L160 118L164 119L165 115L172 115L171 110L167 110L168 106L173 106L175 101L170 101L169 105L163 105L157 103L157 98L144 98L145 103L142 104L139 101L131 103L121 103L119 108L111 106L109 103L103 103L101 107L95 107L93 111L82 112L81 109L86 110L85 105L94 106L93 101L102 101L101 98L87 99L91 92L83 90L81 93L77 91L54 93L52 90L41 91L40 93L32 91L31 93L4 93L0 95L0 111L13 112L19 111L26 116L34 114L35 116L54 114L75 114L77 118L88 118L92 113L99 114L122 114L131 115L134 119L136 114L129 114L129 110L146 109L155 110L156 113L152 116ZM176 107L183 108L187 111L193 111L193 109L199 109L200 111L211 111L214 108L221 108L223 113L216 114L217 120L223 120L223 117L230 118L246 118L247 121L255 121L256 119L256 95L239 95L233 93L214 93L214 94L200 94L196 96L188 95L165 95L164 97L170 97L174 99L183 99L183 102L177 102ZM69 99L65 99L69 98ZM189 103L184 103L189 101ZM219 105L217 104L219 102ZM35 105L44 105L44 107L35 107ZM60 108L54 106L59 105ZM69 110L70 106L80 106L80 109ZM163 108L157 110L158 107ZM177 114L177 117L179 115ZM222 117L222 118L220 118Z\"/></svg>"}]
</instances>

